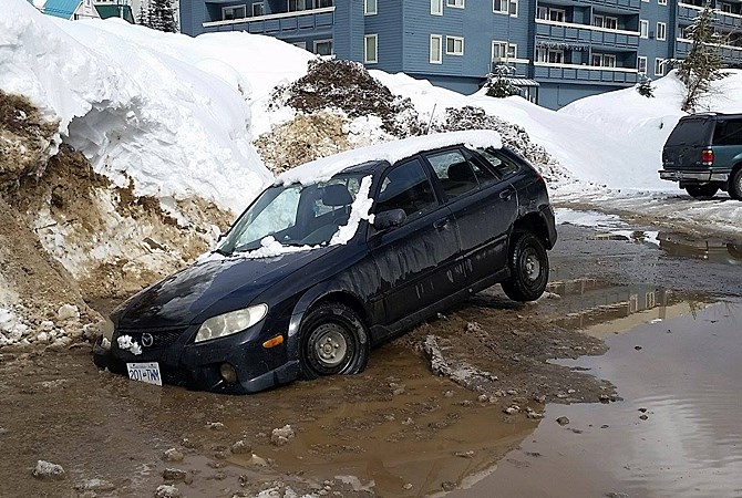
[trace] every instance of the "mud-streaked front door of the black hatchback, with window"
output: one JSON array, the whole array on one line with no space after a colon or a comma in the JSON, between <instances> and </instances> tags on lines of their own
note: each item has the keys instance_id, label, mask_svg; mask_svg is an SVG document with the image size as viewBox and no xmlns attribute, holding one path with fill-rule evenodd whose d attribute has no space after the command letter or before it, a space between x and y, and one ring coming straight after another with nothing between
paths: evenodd
<instances>
[{"instance_id":1,"label":"mud-streaked front door of the black hatchback, with window","mask_svg":"<svg viewBox=\"0 0 742 498\"><path fill-rule=\"evenodd\" d=\"M396 323L466 286L455 266L458 239L451 210L440 205L420 158L388 169L373 212L404 210L401 226L370 228L369 248L381 279L387 323Z\"/></svg>"}]
</instances>

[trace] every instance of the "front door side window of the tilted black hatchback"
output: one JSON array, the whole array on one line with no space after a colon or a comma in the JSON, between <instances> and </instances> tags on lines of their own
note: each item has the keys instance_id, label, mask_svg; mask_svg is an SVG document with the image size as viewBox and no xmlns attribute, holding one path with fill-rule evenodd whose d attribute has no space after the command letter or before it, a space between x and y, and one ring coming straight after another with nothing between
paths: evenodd
<instances>
[{"instance_id":1,"label":"front door side window of the tilted black hatchback","mask_svg":"<svg viewBox=\"0 0 742 498\"><path fill-rule=\"evenodd\" d=\"M437 200L425 169L420 159L412 159L384 175L373 212L402 209L412 220L435 208Z\"/></svg>"}]
</instances>

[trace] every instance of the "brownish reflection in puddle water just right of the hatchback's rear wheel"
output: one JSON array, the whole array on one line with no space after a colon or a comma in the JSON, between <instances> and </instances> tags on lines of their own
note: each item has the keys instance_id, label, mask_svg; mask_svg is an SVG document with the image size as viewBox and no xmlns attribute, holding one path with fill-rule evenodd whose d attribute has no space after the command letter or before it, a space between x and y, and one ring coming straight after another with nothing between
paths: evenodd
<instances>
[{"instance_id":1,"label":"brownish reflection in puddle water just right of the hatchback's rear wheel","mask_svg":"<svg viewBox=\"0 0 742 498\"><path fill-rule=\"evenodd\" d=\"M695 313L710 302L703 294L649 284L616 286L597 279L552 282L547 291L561 297L565 315L555 321L557 325L600 338L640 323Z\"/></svg>"}]
</instances>

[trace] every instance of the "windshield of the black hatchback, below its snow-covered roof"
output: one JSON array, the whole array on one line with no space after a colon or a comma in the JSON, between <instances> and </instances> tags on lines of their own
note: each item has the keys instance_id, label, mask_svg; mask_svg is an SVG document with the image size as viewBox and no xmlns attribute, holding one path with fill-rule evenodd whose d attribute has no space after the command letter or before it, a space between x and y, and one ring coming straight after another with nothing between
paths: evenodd
<instances>
[{"instance_id":1,"label":"windshield of the black hatchback, below its snow-covered roof","mask_svg":"<svg viewBox=\"0 0 742 498\"><path fill-rule=\"evenodd\" d=\"M311 185L278 185L266 189L239 217L217 247L231 255L261 247L266 237L281 246L328 245L348 224L361 176L340 175Z\"/></svg>"}]
</instances>

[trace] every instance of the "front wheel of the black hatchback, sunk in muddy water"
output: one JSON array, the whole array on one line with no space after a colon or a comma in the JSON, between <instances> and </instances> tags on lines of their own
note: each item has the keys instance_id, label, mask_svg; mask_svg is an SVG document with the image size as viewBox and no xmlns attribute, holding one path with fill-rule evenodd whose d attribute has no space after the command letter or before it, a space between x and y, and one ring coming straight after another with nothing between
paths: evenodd
<instances>
[{"instance_id":1,"label":"front wheel of the black hatchback, sunk in muddy water","mask_svg":"<svg viewBox=\"0 0 742 498\"><path fill-rule=\"evenodd\" d=\"M300 330L301 376L352 375L369 361L369 333L363 320L341 303L321 303L309 311Z\"/></svg>"}]
</instances>

